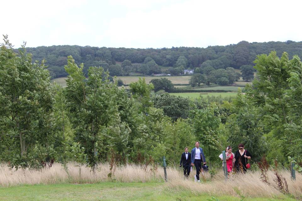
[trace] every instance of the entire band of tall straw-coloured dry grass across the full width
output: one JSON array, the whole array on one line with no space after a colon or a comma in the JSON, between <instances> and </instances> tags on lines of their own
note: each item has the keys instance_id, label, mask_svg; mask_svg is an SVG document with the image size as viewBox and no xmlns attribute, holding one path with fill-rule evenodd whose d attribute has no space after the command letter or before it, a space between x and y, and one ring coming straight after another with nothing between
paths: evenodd
<instances>
[{"instance_id":1,"label":"entire band of tall straw-coloured dry grass across the full width","mask_svg":"<svg viewBox=\"0 0 302 201\"><path fill-rule=\"evenodd\" d=\"M3 187L16 186L21 184L58 184L58 183L97 183L105 181L119 181L119 182L149 182L149 181L163 181L164 171L161 167L152 171L152 167L143 167L138 165L117 166L113 176L108 177L109 164L99 164L98 170L91 171L85 166L80 167L74 163L68 164L68 174L61 166L61 164L54 163L51 168L41 170L11 170L6 164L0 165L0 185ZM243 196L249 197L273 197L282 196L282 193L262 182L260 171L249 171L246 174L233 175L225 180L223 172L219 172L213 178L209 173L206 173L202 182L193 182L194 171L190 174L189 180L183 178L181 168L171 167L167 169L168 182L165 188L177 193L180 190L191 191L192 193L202 194L207 193L211 195L238 195L238 191ZM302 198L302 175L296 174L296 181L290 178L290 172L280 171L288 183L289 193L296 198ZM275 184L273 181L275 177L273 171L267 172L268 182Z\"/></svg>"}]
</instances>

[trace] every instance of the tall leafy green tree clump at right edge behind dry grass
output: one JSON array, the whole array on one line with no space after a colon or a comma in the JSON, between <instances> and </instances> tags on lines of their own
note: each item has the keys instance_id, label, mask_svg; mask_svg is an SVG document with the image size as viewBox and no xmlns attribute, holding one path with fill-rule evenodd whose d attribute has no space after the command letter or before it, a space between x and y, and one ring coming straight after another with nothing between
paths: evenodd
<instances>
[{"instance_id":1,"label":"tall leafy green tree clump at right edge behind dry grass","mask_svg":"<svg viewBox=\"0 0 302 201\"><path fill-rule=\"evenodd\" d=\"M302 63L298 56L289 60L286 52L281 58L276 52L258 55L255 63L258 79L247 87L247 97L259 109L271 150L280 148L301 161Z\"/></svg>"}]
</instances>

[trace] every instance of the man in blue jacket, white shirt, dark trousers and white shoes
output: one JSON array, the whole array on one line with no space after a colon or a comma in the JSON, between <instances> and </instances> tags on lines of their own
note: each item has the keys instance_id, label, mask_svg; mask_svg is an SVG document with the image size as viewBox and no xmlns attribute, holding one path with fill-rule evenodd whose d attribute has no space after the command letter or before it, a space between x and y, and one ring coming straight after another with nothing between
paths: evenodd
<instances>
[{"instance_id":1,"label":"man in blue jacket, white shirt, dark trousers and white shoes","mask_svg":"<svg viewBox=\"0 0 302 201\"><path fill-rule=\"evenodd\" d=\"M204 157L204 151L199 147L199 142L195 142L195 148L191 150L191 165L196 167L195 182L200 182L199 173L202 168L202 163L207 164Z\"/></svg>"}]
</instances>

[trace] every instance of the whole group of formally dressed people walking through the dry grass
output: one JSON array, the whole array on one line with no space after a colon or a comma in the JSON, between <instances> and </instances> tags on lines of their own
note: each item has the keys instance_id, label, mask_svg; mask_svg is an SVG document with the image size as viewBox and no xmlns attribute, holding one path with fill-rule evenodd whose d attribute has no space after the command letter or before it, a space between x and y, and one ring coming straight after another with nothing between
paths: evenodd
<instances>
[{"instance_id":1,"label":"whole group of formally dressed people walking through the dry grass","mask_svg":"<svg viewBox=\"0 0 302 201\"><path fill-rule=\"evenodd\" d=\"M222 154L219 155L219 158L223 160ZM251 159L251 154L248 150L244 149L243 144L238 145L238 150L234 154L232 152L232 147L228 146L226 148L226 168L229 174L232 174L233 171L245 173L250 167L248 160ZM183 175L185 178L188 178L192 167L196 167L196 175L194 175L194 181L200 182L199 174L203 170L208 170L207 162L204 157L203 149L199 147L199 141L195 142L195 147L191 150L191 153L188 152L188 148L185 148L185 152L182 153L179 166L183 167ZM223 164L222 164L223 166Z\"/></svg>"}]
</instances>

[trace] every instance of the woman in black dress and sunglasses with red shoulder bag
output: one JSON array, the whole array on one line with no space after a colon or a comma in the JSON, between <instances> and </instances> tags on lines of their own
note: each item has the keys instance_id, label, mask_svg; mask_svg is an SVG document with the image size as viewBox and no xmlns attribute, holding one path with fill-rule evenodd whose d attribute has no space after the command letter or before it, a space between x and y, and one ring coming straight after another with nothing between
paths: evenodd
<instances>
[{"instance_id":1,"label":"woman in black dress and sunglasses with red shoulder bag","mask_svg":"<svg viewBox=\"0 0 302 201\"><path fill-rule=\"evenodd\" d=\"M245 173L247 170L246 164L248 164L248 159L251 159L252 155L248 150L244 149L243 144L238 145L238 150L235 153L235 167L237 172Z\"/></svg>"}]
</instances>

